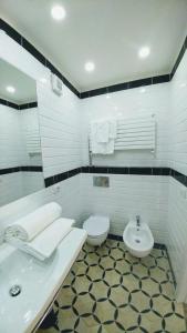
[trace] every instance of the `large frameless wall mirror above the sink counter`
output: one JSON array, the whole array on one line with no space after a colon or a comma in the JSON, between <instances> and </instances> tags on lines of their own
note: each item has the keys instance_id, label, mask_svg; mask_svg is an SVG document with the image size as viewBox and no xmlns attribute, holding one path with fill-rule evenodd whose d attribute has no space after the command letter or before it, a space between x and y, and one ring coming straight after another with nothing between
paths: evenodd
<instances>
[{"instance_id":1,"label":"large frameless wall mirror above the sink counter","mask_svg":"<svg viewBox=\"0 0 187 333\"><path fill-rule=\"evenodd\" d=\"M0 205L42 188L37 82L0 59Z\"/></svg>"}]
</instances>

